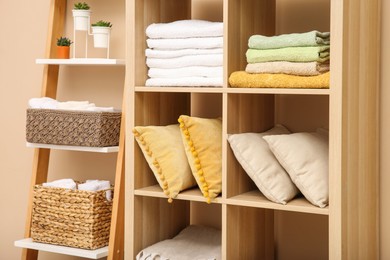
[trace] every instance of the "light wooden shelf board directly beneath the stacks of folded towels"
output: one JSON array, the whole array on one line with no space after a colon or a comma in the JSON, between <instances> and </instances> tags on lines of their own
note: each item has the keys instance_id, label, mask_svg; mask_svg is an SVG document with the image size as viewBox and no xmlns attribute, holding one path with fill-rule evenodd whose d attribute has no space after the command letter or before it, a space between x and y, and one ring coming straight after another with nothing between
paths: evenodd
<instances>
[{"instance_id":1,"label":"light wooden shelf board directly beneath the stacks of folded towels","mask_svg":"<svg viewBox=\"0 0 390 260\"><path fill-rule=\"evenodd\" d=\"M330 90L329 89L298 89L298 88L203 88L203 87L194 88L194 87L136 86L135 92L329 95Z\"/></svg>"}]
</instances>

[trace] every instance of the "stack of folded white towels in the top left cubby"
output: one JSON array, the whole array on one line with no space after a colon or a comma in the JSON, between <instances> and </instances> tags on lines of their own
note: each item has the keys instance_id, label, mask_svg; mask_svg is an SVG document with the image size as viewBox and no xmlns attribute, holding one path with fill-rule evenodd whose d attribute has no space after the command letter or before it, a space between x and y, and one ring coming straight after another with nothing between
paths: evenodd
<instances>
[{"instance_id":1,"label":"stack of folded white towels in the top left cubby","mask_svg":"<svg viewBox=\"0 0 390 260\"><path fill-rule=\"evenodd\" d=\"M146 36L147 87L222 87L223 23L154 23Z\"/></svg>"}]
</instances>

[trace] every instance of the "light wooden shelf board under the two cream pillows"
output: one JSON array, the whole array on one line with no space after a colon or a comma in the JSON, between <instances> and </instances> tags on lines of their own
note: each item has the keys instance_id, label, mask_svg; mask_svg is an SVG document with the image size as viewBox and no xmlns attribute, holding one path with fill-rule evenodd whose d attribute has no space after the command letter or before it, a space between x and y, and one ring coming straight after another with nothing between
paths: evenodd
<instances>
[{"instance_id":1,"label":"light wooden shelf board under the two cream pillows","mask_svg":"<svg viewBox=\"0 0 390 260\"><path fill-rule=\"evenodd\" d=\"M312 205L305 198L300 197L293 199L286 205L278 204L268 200L260 191L253 190L231 198L226 199L226 204L236 206L247 206L266 208L274 210L294 211L301 213L329 215L329 208L319 208Z\"/></svg>"}]
</instances>

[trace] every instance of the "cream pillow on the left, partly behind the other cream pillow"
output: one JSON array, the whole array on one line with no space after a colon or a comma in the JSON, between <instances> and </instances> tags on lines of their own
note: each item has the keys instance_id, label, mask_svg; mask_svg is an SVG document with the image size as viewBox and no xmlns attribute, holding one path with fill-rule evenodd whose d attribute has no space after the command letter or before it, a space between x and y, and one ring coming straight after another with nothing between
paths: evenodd
<instances>
[{"instance_id":1,"label":"cream pillow on the left, partly behind the other cream pillow","mask_svg":"<svg viewBox=\"0 0 390 260\"><path fill-rule=\"evenodd\" d=\"M235 157L259 190L269 200L281 204L286 204L299 191L262 137L288 133L290 132L284 126L277 125L264 133L228 136Z\"/></svg>"}]
</instances>

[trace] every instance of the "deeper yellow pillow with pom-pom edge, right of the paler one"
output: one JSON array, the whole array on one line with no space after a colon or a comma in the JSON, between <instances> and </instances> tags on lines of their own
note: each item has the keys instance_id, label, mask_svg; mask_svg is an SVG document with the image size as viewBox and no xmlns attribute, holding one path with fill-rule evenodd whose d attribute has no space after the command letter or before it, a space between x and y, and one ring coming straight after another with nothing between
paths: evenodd
<instances>
[{"instance_id":1,"label":"deeper yellow pillow with pom-pom edge, right of the paler one","mask_svg":"<svg viewBox=\"0 0 390 260\"><path fill-rule=\"evenodd\" d=\"M192 174L210 203L222 191L222 121L185 115L178 121Z\"/></svg>"}]
</instances>

